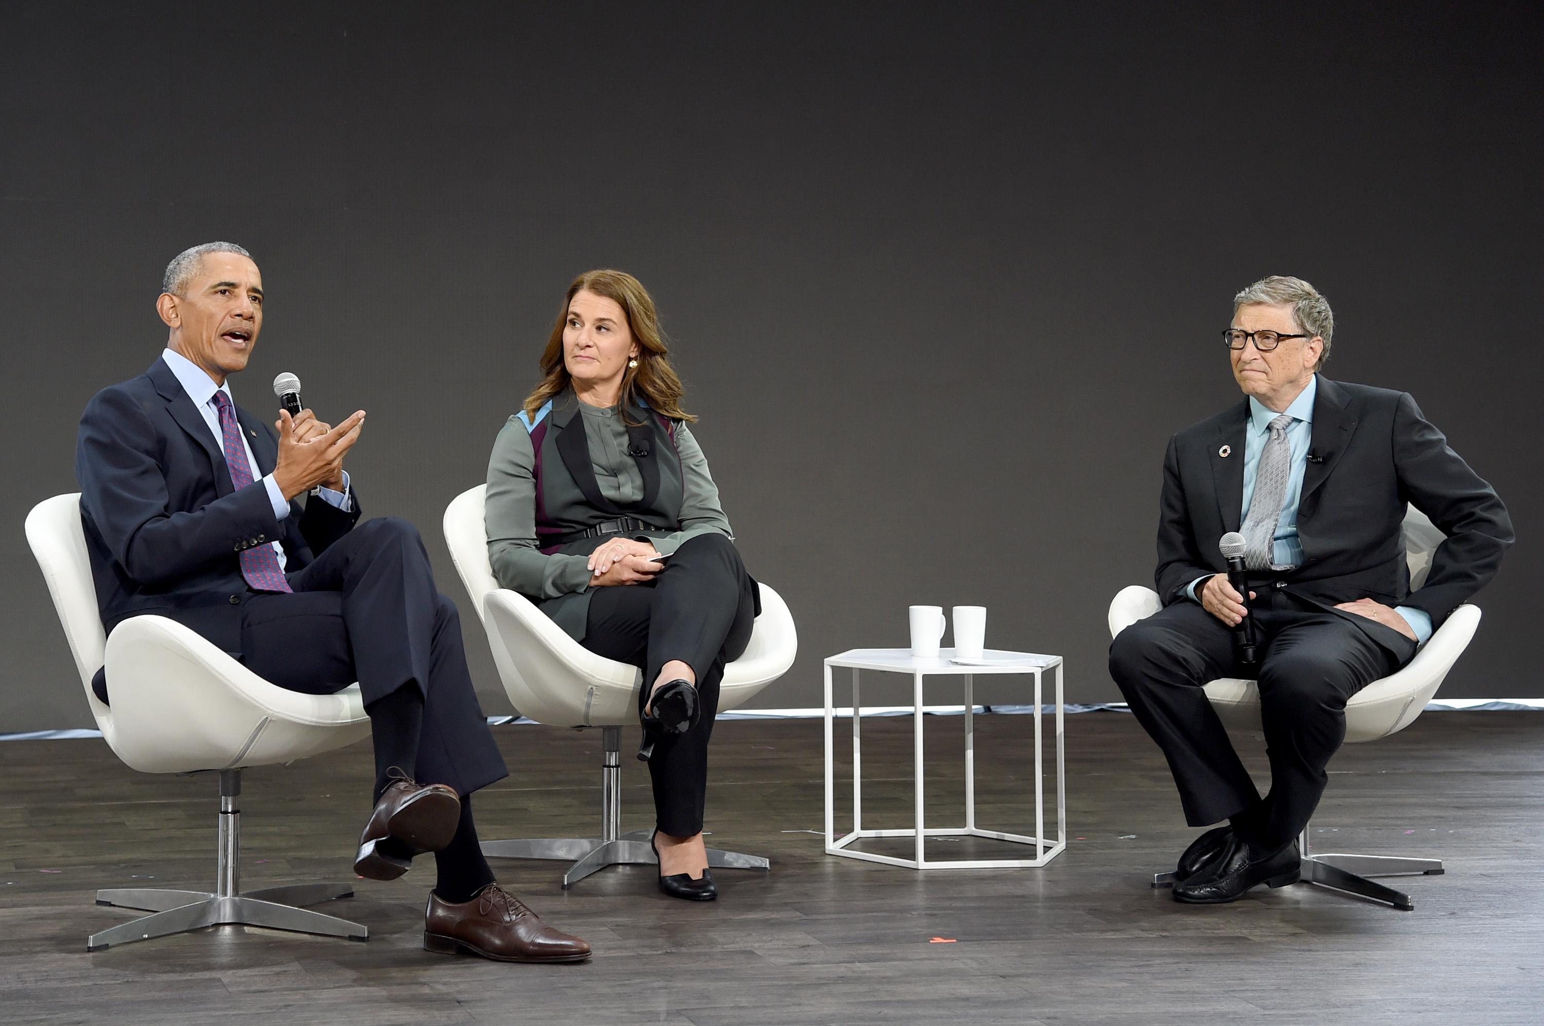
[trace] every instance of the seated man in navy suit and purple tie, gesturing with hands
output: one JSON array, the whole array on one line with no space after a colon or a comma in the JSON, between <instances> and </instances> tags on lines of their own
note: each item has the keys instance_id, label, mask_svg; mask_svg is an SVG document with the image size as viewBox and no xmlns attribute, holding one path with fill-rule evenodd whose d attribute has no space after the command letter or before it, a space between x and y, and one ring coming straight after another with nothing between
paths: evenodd
<instances>
[{"instance_id":1,"label":"seated man in navy suit and purple tie, gesturing with hands","mask_svg":"<svg viewBox=\"0 0 1544 1026\"><path fill-rule=\"evenodd\" d=\"M425 946L502 961L576 961L590 946L494 882L471 793L506 776L477 705L455 606L406 521L360 522L343 460L364 411L337 426L279 411L275 431L235 405L262 329L262 278L230 243L179 253L156 311L167 349L97 392L76 474L108 632L170 617L281 688L358 680L375 745L375 807L354 868L395 879L435 853ZM309 494L304 505L298 499ZM97 674L97 697L111 681Z\"/></svg>"}]
</instances>

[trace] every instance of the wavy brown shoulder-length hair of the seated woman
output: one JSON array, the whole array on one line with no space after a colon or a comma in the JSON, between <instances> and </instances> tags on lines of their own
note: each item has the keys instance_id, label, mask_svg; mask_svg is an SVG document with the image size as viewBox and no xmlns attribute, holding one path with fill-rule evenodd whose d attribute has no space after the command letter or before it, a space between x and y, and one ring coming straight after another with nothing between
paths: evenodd
<instances>
[{"instance_id":1,"label":"wavy brown shoulder-length hair of the seated woman","mask_svg":"<svg viewBox=\"0 0 1544 1026\"><path fill-rule=\"evenodd\" d=\"M542 351L542 383L525 397L525 414L534 417L536 411L548 399L557 396L570 386L568 368L564 365L564 326L568 323L568 304L579 292L593 292L615 300L627 314L627 329L633 332L638 343L638 366L622 371L622 411L636 406L642 399L655 413L672 420L696 420L681 409L681 379L670 366L670 346L659 331L659 314L655 311L655 300L648 289L625 270L587 270L573 280L568 294L564 295L564 306L557 311L557 321L553 334L547 338L547 349Z\"/></svg>"}]
</instances>

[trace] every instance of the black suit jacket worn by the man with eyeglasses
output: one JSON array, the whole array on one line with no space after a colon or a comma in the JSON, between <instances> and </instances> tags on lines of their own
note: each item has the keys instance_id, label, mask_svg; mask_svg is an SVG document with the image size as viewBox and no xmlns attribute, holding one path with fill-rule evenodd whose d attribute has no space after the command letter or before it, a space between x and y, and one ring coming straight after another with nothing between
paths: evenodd
<instances>
[{"instance_id":1,"label":"black suit jacket worn by the man with eyeglasses","mask_svg":"<svg viewBox=\"0 0 1544 1026\"><path fill-rule=\"evenodd\" d=\"M1227 569L1217 542L1240 525L1248 419L1246 399L1169 440L1156 573L1166 606L1190 581ZM1285 590L1328 606L1414 606L1436 627L1495 576L1513 538L1507 508L1408 394L1320 375L1309 454L1297 508L1303 566L1254 575L1261 583L1280 578ZM1416 592L1400 530L1407 502L1447 535Z\"/></svg>"}]
</instances>

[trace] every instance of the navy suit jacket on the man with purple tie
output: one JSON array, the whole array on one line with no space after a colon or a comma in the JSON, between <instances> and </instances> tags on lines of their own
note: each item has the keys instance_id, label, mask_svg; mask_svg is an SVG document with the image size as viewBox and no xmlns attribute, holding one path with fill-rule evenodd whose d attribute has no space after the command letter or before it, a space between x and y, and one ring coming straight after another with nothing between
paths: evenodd
<instances>
[{"instance_id":1,"label":"navy suit jacket on the man with purple tie","mask_svg":"<svg viewBox=\"0 0 1544 1026\"><path fill-rule=\"evenodd\" d=\"M273 471L278 437L245 409L236 419L261 474ZM103 388L80 416L76 443L80 519L91 552L97 606L108 632L156 613L241 655L241 606L250 598L241 553L278 541L286 570L346 535L360 519L327 502L290 502L275 519L262 481L239 491L208 422L164 360Z\"/></svg>"}]
</instances>

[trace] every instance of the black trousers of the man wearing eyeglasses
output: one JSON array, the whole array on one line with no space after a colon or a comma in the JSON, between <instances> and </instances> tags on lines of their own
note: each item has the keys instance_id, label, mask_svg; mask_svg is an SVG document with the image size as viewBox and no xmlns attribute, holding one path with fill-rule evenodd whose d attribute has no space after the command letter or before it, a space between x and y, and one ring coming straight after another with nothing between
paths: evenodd
<instances>
[{"instance_id":1,"label":"black trousers of the man wearing eyeglasses","mask_svg":"<svg viewBox=\"0 0 1544 1026\"><path fill-rule=\"evenodd\" d=\"M1277 850L1308 825L1345 742L1346 700L1416 654L1416 643L1376 621L1260 589L1260 720L1271 762L1263 802L1203 685L1248 677L1234 661L1232 629L1198 603L1178 601L1133 623L1110 644L1110 675L1163 749L1192 827L1249 813L1257 841Z\"/></svg>"}]
</instances>

